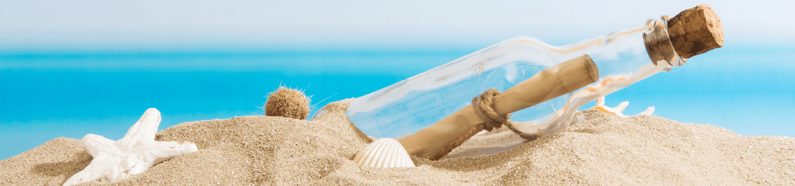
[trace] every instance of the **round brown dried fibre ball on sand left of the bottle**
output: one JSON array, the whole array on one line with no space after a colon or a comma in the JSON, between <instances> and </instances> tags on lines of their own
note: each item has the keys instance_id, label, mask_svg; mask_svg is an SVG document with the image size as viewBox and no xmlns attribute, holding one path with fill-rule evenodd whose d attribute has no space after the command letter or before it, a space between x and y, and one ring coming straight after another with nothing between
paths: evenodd
<instances>
[{"instance_id":1,"label":"round brown dried fibre ball on sand left of the bottle","mask_svg":"<svg viewBox=\"0 0 795 186\"><path fill-rule=\"evenodd\" d=\"M305 120L309 116L309 99L301 90L279 87L273 93L269 93L263 110L265 116Z\"/></svg>"}]
</instances>

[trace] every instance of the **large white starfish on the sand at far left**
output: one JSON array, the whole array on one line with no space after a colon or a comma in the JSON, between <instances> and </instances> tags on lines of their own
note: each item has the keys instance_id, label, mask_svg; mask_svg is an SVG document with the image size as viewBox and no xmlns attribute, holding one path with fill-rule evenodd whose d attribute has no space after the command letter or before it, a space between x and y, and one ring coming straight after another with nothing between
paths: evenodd
<instances>
[{"instance_id":1,"label":"large white starfish on the sand at far left","mask_svg":"<svg viewBox=\"0 0 795 186\"><path fill-rule=\"evenodd\" d=\"M124 138L118 141L99 135L88 134L80 142L83 148L94 157L85 169L66 180L64 186L87 181L117 181L130 175L143 173L149 167L181 154L195 152L196 144L187 142L154 141L157 126L160 125L160 112L155 108L146 109Z\"/></svg>"}]
</instances>

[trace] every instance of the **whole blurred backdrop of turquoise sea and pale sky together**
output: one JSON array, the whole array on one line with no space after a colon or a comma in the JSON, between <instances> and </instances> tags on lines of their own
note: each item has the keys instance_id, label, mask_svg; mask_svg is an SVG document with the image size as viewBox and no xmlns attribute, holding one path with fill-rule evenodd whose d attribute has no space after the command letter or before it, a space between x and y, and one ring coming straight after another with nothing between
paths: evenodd
<instances>
[{"instance_id":1,"label":"whole blurred backdrop of turquoise sea and pale sky together","mask_svg":"<svg viewBox=\"0 0 795 186\"><path fill-rule=\"evenodd\" d=\"M0 160L61 136L121 139L146 108L161 111L161 130L262 115L279 85L304 89L314 112L512 36L563 45L698 5L629 2L0 2ZM795 136L786 10L703 3L723 20L724 47L607 105Z\"/></svg>"}]
</instances>

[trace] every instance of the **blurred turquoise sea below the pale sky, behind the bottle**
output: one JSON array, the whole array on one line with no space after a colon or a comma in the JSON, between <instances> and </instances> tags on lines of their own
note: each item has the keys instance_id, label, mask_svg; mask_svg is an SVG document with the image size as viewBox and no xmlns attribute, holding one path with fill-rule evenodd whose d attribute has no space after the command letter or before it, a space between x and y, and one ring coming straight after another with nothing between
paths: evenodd
<instances>
[{"instance_id":1,"label":"blurred turquoise sea below the pale sky, behind the bottle","mask_svg":"<svg viewBox=\"0 0 795 186\"><path fill-rule=\"evenodd\" d=\"M37 52L0 54L0 159L50 139L121 139L146 108L160 129L260 115L279 85L316 109L360 97L479 48L398 51ZM712 124L740 135L795 136L795 48L723 47L607 96L625 114ZM583 108L590 108L587 104Z\"/></svg>"}]
</instances>

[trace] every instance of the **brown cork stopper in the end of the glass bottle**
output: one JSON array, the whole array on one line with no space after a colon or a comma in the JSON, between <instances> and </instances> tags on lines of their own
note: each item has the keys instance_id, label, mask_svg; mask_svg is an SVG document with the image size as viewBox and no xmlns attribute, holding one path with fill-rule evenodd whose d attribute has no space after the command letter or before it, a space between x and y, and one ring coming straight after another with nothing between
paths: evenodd
<instances>
[{"instance_id":1,"label":"brown cork stopper in the end of the glass bottle","mask_svg":"<svg viewBox=\"0 0 795 186\"><path fill-rule=\"evenodd\" d=\"M723 27L712 7L700 5L685 9L668 21L673 48L682 58L700 55L723 47Z\"/></svg>"}]
</instances>

